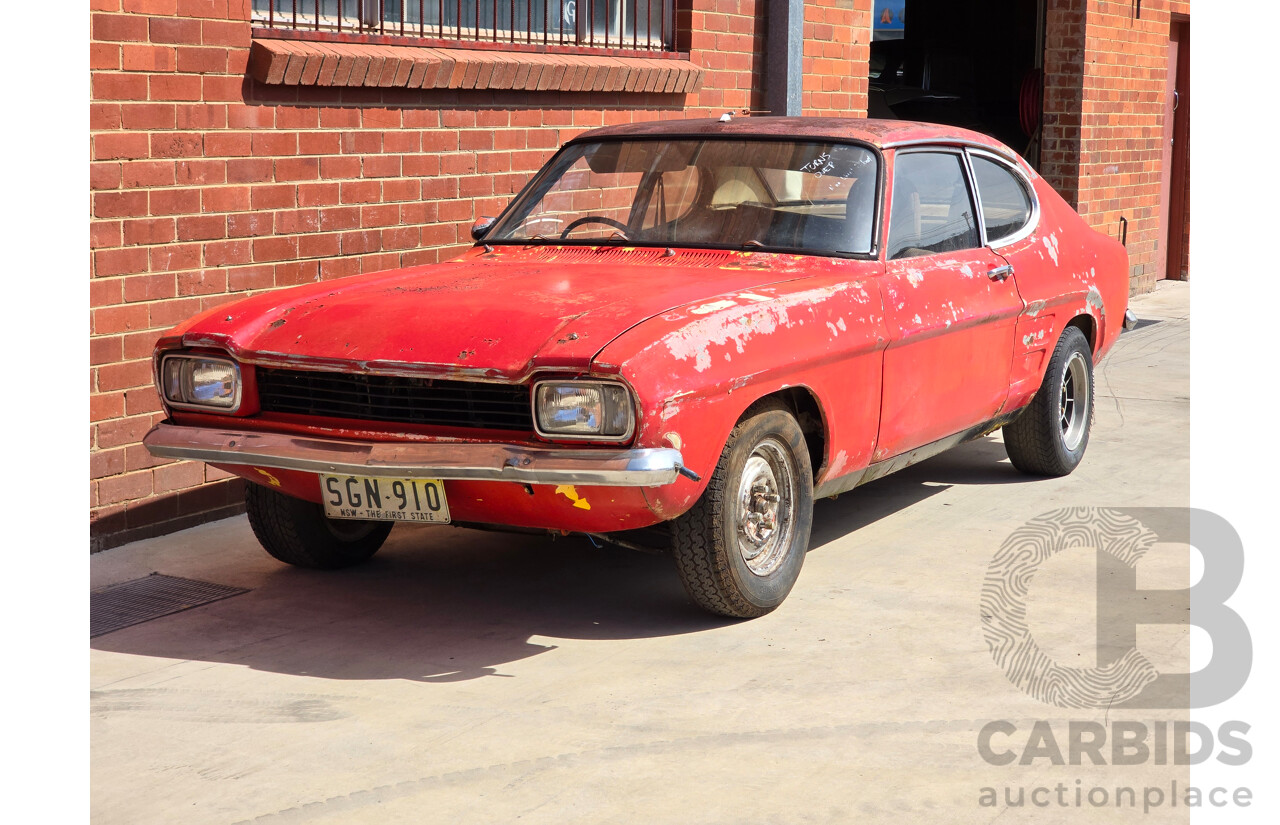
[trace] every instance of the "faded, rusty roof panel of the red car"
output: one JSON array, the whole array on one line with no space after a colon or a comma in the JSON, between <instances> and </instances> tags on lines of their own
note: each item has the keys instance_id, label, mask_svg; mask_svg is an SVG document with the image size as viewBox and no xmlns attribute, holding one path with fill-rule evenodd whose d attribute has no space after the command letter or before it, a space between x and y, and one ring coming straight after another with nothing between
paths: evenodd
<instances>
[{"instance_id":1,"label":"faded, rusty roof panel of the red car","mask_svg":"<svg viewBox=\"0 0 1280 825\"><path fill-rule=\"evenodd\" d=\"M616 137L795 137L860 141L878 148L916 142L969 143L1014 156L1004 143L960 127L911 120L872 120L868 118L751 118L737 116L728 123L718 118L687 120L648 120L603 129L591 129L575 141Z\"/></svg>"}]
</instances>

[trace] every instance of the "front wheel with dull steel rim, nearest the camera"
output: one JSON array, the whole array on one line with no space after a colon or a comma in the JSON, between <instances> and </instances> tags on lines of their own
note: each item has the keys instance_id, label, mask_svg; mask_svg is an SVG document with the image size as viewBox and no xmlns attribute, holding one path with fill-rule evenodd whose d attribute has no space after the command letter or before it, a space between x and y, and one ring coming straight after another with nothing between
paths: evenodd
<instances>
[{"instance_id":1,"label":"front wheel with dull steel rim, nearest the camera","mask_svg":"<svg viewBox=\"0 0 1280 825\"><path fill-rule=\"evenodd\" d=\"M804 434L781 404L760 404L733 427L701 498L672 522L672 555L698 606L750 619L791 592L812 526Z\"/></svg>"}]
</instances>

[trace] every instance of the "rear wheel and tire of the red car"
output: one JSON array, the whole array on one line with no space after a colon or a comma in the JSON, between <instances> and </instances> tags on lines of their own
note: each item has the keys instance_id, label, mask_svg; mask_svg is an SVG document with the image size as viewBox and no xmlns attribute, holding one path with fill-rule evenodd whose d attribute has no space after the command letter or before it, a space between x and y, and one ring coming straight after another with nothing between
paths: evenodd
<instances>
[{"instance_id":1,"label":"rear wheel and tire of the red car","mask_svg":"<svg viewBox=\"0 0 1280 825\"><path fill-rule=\"evenodd\" d=\"M1005 452L1024 473L1066 476L1084 458L1092 425L1093 353L1084 333L1069 326L1032 403L1005 425Z\"/></svg>"}]
</instances>

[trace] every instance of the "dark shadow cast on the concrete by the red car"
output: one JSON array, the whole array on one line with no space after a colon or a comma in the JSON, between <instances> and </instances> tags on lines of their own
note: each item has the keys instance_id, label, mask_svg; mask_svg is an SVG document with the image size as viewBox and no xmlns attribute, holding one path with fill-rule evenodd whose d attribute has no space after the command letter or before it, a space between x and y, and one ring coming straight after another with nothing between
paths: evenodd
<instances>
[{"instance_id":1,"label":"dark shadow cast on the concrete by the red car","mask_svg":"<svg viewBox=\"0 0 1280 825\"><path fill-rule=\"evenodd\" d=\"M975 441L819 501L810 546L820 553L950 485L1025 480L997 464L997 450L1002 459L998 443ZM229 559L253 541L247 530L237 535L246 546L228 547ZM667 556L596 547L582 536L398 527L358 568L271 569L244 595L91 646L328 679L433 683L509 675L504 665L553 651L558 640L653 638L731 623L689 601Z\"/></svg>"}]
</instances>

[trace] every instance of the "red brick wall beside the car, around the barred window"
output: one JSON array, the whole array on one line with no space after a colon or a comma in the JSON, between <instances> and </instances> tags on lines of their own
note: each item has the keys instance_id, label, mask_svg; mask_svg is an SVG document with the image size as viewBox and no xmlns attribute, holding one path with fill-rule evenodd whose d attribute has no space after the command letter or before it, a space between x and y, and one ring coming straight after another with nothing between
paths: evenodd
<instances>
[{"instance_id":1,"label":"red brick wall beside the car, around the barred window","mask_svg":"<svg viewBox=\"0 0 1280 825\"><path fill-rule=\"evenodd\" d=\"M148 357L169 326L256 290L447 260L588 128L763 106L764 0L677 6L678 47L704 69L691 95L268 86L246 72L248 0L90 6L99 549L241 507L241 482L140 443L161 417ZM806 107L865 111L869 9L814 4Z\"/></svg>"}]
</instances>

